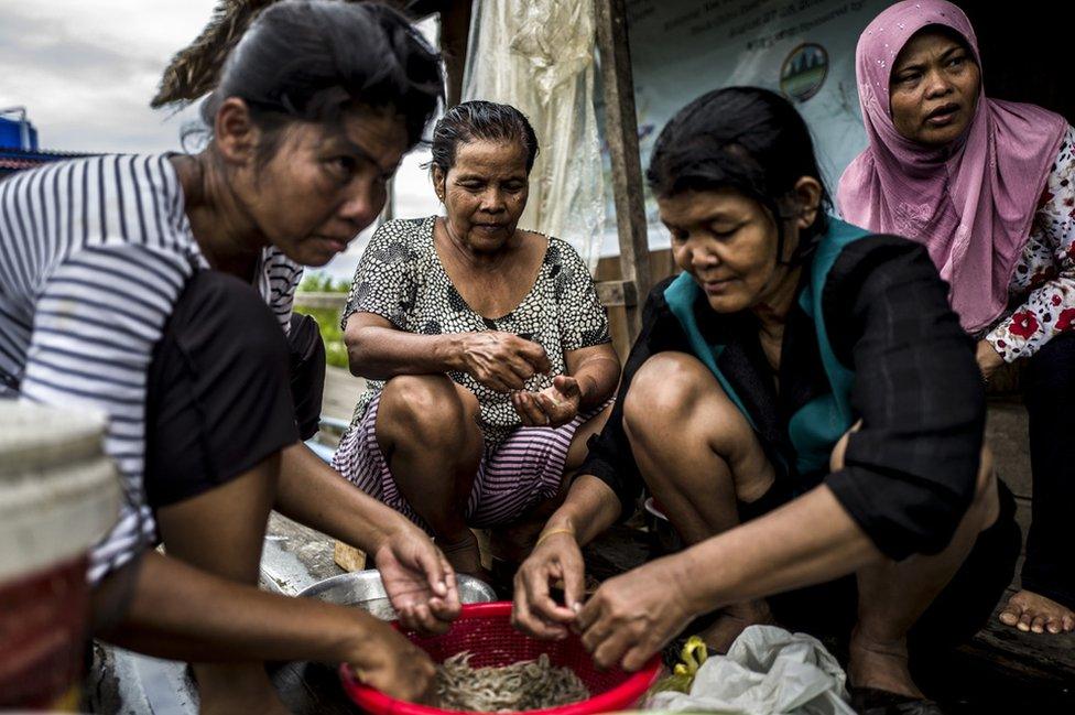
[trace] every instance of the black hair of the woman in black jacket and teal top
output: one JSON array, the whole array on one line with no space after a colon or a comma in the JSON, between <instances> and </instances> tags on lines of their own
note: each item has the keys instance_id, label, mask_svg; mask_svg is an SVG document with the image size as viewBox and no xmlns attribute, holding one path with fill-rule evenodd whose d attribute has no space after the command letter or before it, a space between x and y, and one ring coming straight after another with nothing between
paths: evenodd
<instances>
[{"instance_id":1,"label":"black hair of the woman in black jacket and teal top","mask_svg":"<svg viewBox=\"0 0 1075 715\"><path fill-rule=\"evenodd\" d=\"M706 93L664 126L653 147L647 181L658 196L730 187L772 212L783 253L781 199L802 176L822 185L817 220L801 232L793 262L805 258L827 226L832 198L822 181L806 122L791 102L759 87Z\"/></svg>"}]
</instances>

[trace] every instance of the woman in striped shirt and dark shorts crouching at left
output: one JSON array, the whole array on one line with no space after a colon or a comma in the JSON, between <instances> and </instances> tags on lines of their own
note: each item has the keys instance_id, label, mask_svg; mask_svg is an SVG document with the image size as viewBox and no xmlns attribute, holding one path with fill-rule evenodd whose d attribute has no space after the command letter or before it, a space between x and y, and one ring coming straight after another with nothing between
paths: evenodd
<instances>
[{"instance_id":1,"label":"woman in striped shirt and dark shorts crouching at left","mask_svg":"<svg viewBox=\"0 0 1075 715\"><path fill-rule=\"evenodd\" d=\"M242 28L242 13L218 30ZM209 67L207 46L177 61ZM204 72L219 82L202 153L99 156L0 184L0 397L108 414L128 506L91 555L96 633L248 661L195 665L203 712L283 712L265 659L346 661L419 697L432 663L383 624L254 584L276 508L372 553L409 625L439 630L458 614L425 534L300 441L284 339L301 266L374 219L421 138L437 56L388 8L289 0ZM199 86L166 75L156 104ZM144 549L158 538L167 557Z\"/></svg>"}]
</instances>

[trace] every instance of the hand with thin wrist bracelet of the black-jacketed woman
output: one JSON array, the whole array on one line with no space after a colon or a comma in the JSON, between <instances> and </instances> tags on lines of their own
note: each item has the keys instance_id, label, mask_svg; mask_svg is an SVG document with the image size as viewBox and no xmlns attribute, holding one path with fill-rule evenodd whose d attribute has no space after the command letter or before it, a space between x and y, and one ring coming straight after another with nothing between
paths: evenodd
<instances>
[{"instance_id":1,"label":"hand with thin wrist bracelet of the black-jacketed woman","mask_svg":"<svg viewBox=\"0 0 1075 715\"><path fill-rule=\"evenodd\" d=\"M569 529L546 529L538 545L515 572L515 603L511 624L519 630L546 640L567 637L567 626L582 607L586 565L575 534ZM550 595L552 584L564 582L561 606Z\"/></svg>"}]
</instances>

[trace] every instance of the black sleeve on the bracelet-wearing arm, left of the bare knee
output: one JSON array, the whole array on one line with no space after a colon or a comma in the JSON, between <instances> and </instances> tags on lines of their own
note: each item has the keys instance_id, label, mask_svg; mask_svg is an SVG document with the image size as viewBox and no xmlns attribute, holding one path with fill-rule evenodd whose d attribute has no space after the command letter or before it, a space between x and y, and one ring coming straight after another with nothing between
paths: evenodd
<instances>
[{"instance_id":1,"label":"black sleeve on the bracelet-wearing arm, left of the bare knee","mask_svg":"<svg viewBox=\"0 0 1075 715\"><path fill-rule=\"evenodd\" d=\"M616 394L612 413L605 423L605 429L589 438L587 443L589 454L578 470L580 475L589 474L597 477L616 492L620 499L621 520L634 513L636 502L643 486L642 475L634 463L631 445L623 432L623 398L631 388L634 373L651 356L663 350L688 349L686 336L664 302L664 289L672 280L670 278L662 281L650 291L642 308L642 327L623 367L623 377Z\"/></svg>"}]
</instances>

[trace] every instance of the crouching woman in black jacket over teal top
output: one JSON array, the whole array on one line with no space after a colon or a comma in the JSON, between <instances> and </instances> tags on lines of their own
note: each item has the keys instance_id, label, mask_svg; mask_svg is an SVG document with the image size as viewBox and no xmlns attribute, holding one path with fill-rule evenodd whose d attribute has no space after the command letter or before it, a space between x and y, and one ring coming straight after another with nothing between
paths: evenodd
<instances>
[{"instance_id":1,"label":"crouching woman in black jacket over teal top","mask_svg":"<svg viewBox=\"0 0 1075 715\"><path fill-rule=\"evenodd\" d=\"M825 215L808 131L767 90L685 107L648 178L684 272L650 294L616 411L517 576L517 624L576 628L628 669L710 611L718 649L774 618L849 631L857 705L938 712L909 636L969 637L1019 551L944 283L920 246ZM643 484L688 548L582 607L579 546Z\"/></svg>"}]
</instances>

